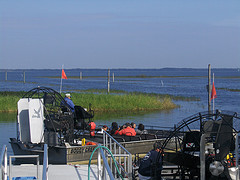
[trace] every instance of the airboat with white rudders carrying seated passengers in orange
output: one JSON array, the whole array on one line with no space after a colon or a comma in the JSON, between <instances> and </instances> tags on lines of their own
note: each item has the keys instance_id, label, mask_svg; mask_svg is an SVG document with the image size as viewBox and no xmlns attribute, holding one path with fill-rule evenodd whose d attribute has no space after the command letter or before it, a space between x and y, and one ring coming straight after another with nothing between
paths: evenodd
<instances>
[{"instance_id":1,"label":"airboat with white rudders carrying seated passengers in orange","mask_svg":"<svg viewBox=\"0 0 240 180\"><path fill-rule=\"evenodd\" d=\"M14 155L39 155L48 144L49 163L69 164L89 160L93 150L103 143L104 134L91 136L89 123L94 111L75 106L72 112L61 94L47 87L28 91L18 101L17 137L10 138ZM98 130L97 128L95 129ZM158 133L157 133L158 132ZM159 133L161 132L161 133ZM114 136L130 153L146 153L166 131L138 136ZM105 132L105 134L108 134ZM161 135L159 135L161 134ZM166 137L166 135L164 135ZM19 161L23 161L19 159Z\"/></svg>"}]
</instances>

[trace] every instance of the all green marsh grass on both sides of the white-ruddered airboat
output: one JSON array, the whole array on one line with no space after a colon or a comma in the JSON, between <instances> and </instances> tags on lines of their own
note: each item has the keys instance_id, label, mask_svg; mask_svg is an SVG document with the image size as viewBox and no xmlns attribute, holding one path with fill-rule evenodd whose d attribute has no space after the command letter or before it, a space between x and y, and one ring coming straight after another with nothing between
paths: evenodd
<instances>
[{"instance_id":1,"label":"all green marsh grass on both sides of the white-ruddered airboat","mask_svg":"<svg viewBox=\"0 0 240 180\"><path fill-rule=\"evenodd\" d=\"M17 112L17 102L25 92L0 92L0 112ZM63 94L62 94L63 95ZM147 93L127 93L116 91L106 94L102 90L95 93L71 93L75 105L88 108L95 112L137 112L173 109L177 106L168 96Z\"/></svg>"}]
</instances>

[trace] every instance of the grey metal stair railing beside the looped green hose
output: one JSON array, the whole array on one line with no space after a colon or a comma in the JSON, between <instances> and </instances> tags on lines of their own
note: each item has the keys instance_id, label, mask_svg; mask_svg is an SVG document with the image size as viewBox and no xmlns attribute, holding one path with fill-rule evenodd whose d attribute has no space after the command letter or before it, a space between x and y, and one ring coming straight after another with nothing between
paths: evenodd
<instances>
[{"instance_id":1,"label":"grey metal stair railing beside the looped green hose","mask_svg":"<svg viewBox=\"0 0 240 180\"><path fill-rule=\"evenodd\" d=\"M128 179L132 179L132 154L106 131L103 131L103 146L109 148L112 152L119 166L120 173L124 174L124 177L127 177ZM110 154L106 154L106 157L109 160L110 169L114 174L114 178L117 178L118 174L116 167L113 166L113 158Z\"/></svg>"}]
</instances>

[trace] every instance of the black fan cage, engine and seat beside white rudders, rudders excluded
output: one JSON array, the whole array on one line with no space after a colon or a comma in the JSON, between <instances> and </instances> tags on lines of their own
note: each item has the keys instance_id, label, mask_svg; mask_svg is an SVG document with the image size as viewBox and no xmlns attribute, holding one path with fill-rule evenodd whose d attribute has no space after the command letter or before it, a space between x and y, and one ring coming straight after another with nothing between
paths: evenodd
<instances>
[{"instance_id":1,"label":"black fan cage, engine and seat beside white rudders, rudders excluded","mask_svg":"<svg viewBox=\"0 0 240 180\"><path fill-rule=\"evenodd\" d=\"M64 142L73 143L78 130L85 130L85 119L92 119L94 111L89 107L86 111L81 106L75 106L72 112L64 98L55 90L47 87L37 87L28 91L23 98L37 98L44 105L44 139L49 146Z\"/></svg>"}]
</instances>

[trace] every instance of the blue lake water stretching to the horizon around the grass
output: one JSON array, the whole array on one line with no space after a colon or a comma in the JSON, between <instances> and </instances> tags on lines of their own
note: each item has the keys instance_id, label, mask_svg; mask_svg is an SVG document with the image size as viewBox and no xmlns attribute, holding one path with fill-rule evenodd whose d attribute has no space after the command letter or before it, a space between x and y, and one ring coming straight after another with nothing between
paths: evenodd
<instances>
[{"instance_id":1,"label":"blue lake water stretching to the horizon around the grass","mask_svg":"<svg viewBox=\"0 0 240 180\"><path fill-rule=\"evenodd\" d=\"M25 84L23 83L23 71L25 71L26 77ZM83 77L93 77L83 80L71 78L63 80L63 92L85 89L107 89L108 71L106 69L66 69L65 72L68 77L79 76L80 72L82 72ZM215 75L215 87L217 88L215 109L240 112L240 92L226 90L226 88L240 89L239 69L213 69L212 72ZM200 101L176 101L175 103L179 104L180 108L171 111L144 115L117 115L114 118L99 118L95 119L97 124L110 125L112 121L123 124L125 122L134 121L146 125L172 127L183 118L207 110L207 69L113 69L111 70L111 75L112 73L115 75L115 81L111 82L110 89L197 97L200 98ZM61 70L9 70L7 72L7 81L5 81L5 75L5 71L0 71L0 91L29 91L37 86L51 87L56 91L60 89L60 79L47 78L47 76L60 77ZM103 77L95 78L94 76ZM123 78L121 76L161 77ZM0 147L2 147L2 144L6 144L9 141L9 137L16 137L15 119L16 115L1 115ZM9 122L9 120L11 121Z\"/></svg>"}]
</instances>

